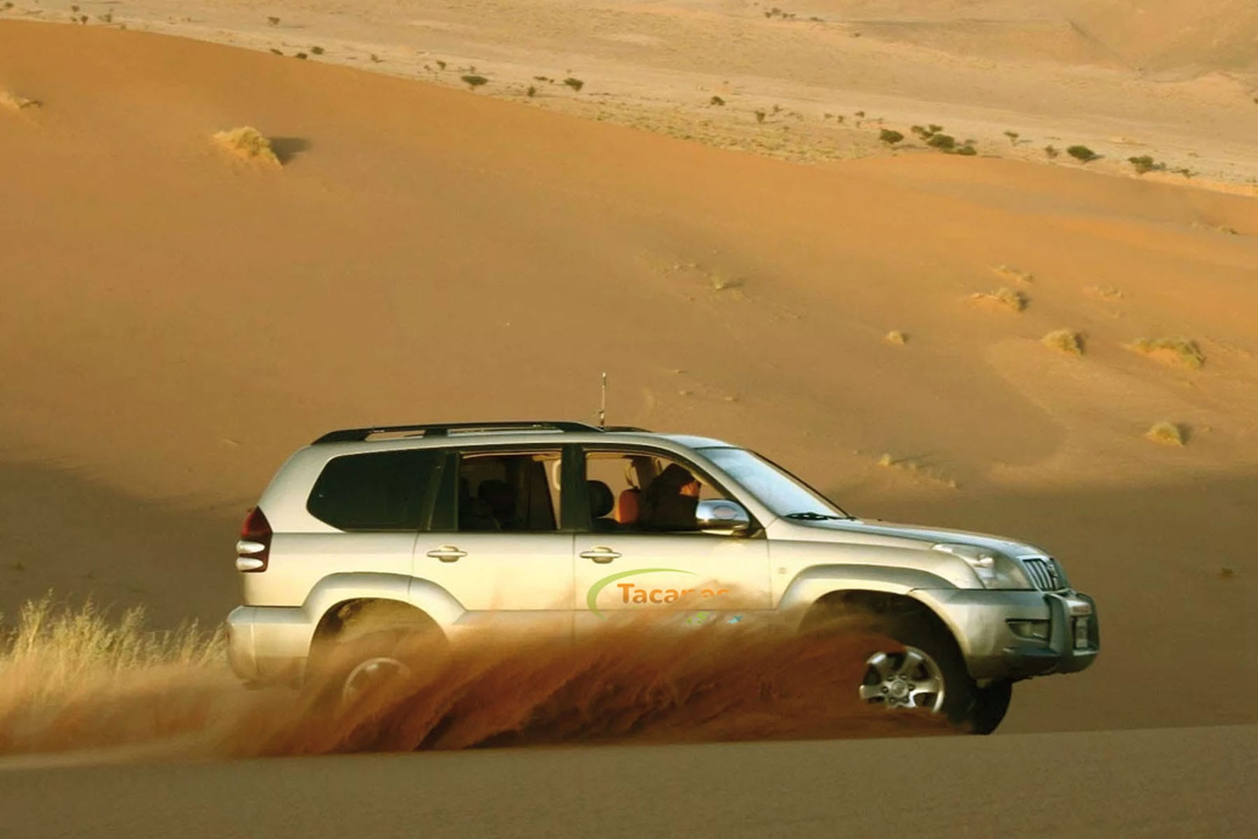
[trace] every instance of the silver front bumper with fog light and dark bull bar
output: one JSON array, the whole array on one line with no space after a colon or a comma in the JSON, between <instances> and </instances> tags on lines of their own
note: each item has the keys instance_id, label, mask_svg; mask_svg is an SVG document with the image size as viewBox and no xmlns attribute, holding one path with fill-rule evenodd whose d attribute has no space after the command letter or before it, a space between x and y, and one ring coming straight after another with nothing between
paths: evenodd
<instances>
[{"instance_id":1,"label":"silver front bumper with fog light and dark bull bar","mask_svg":"<svg viewBox=\"0 0 1258 839\"><path fill-rule=\"evenodd\" d=\"M1086 594L920 589L913 596L949 625L976 679L1077 673L1101 652L1096 603Z\"/></svg>"}]
</instances>

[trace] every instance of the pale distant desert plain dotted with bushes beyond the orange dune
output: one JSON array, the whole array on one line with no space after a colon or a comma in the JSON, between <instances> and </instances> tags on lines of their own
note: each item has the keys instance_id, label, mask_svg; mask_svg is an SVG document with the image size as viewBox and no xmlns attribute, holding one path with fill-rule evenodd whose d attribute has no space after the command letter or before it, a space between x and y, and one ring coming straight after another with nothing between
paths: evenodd
<instances>
[{"instance_id":1,"label":"pale distant desert plain dotted with bushes beyond the orange dune","mask_svg":"<svg viewBox=\"0 0 1258 839\"><path fill-rule=\"evenodd\" d=\"M301 53L450 87L477 74L488 96L789 160L892 155L882 127L920 148L910 126L936 123L985 156L1074 166L1044 147L1083 143L1103 156L1089 167L1110 174L1132 176L1127 158L1149 155L1198 185L1258 190L1249 0L75 5L92 26ZM67 21L68 6L19 0L0 14ZM585 86L574 92L566 77ZM1015 145L1006 131L1019 133Z\"/></svg>"}]
</instances>

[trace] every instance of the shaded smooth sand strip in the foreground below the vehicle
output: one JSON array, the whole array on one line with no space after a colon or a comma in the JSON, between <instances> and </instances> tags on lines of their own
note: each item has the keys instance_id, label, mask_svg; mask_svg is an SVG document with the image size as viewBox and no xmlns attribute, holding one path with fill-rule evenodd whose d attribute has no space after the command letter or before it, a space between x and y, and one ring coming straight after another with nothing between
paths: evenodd
<instances>
[{"instance_id":1,"label":"shaded smooth sand strip in the foreground below the vehicle","mask_svg":"<svg viewBox=\"0 0 1258 839\"><path fill-rule=\"evenodd\" d=\"M0 770L0 829L23 839L1244 835L1258 818L1255 746L1244 726L45 765Z\"/></svg>"}]
</instances>

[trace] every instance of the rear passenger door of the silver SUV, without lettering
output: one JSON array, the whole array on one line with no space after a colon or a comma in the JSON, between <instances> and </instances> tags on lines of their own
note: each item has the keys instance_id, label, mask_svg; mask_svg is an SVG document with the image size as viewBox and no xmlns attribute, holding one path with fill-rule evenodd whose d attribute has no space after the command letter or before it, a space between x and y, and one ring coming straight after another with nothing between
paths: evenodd
<instances>
[{"instance_id":1,"label":"rear passenger door of the silver SUV, without lettering","mask_svg":"<svg viewBox=\"0 0 1258 839\"><path fill-rule=\"evenodd\" d=\"M560 530L560 447L445 450L414 576L442 586L465 620L571 629L572 533Z\"/></svg>"}]
</instances>

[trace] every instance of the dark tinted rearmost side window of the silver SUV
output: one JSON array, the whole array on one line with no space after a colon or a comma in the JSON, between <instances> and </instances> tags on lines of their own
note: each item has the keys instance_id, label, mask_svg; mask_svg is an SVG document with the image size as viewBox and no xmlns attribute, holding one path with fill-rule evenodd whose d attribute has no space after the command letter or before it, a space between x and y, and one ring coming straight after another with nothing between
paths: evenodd
<instances>
[{"instance_id":1,"label":"dark tinted rearmost side window of the silver SUV","mask_svg":"<svg viewBox=\"0 0 1258 839\"><path fill-rule=\"evenodd\" d=\"M314 482L306 509L347 531L419 530L434 462L423 449L333 458Z\"/></svg>"}]
</instances>

